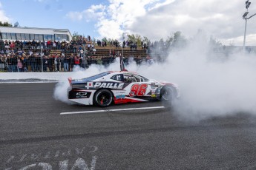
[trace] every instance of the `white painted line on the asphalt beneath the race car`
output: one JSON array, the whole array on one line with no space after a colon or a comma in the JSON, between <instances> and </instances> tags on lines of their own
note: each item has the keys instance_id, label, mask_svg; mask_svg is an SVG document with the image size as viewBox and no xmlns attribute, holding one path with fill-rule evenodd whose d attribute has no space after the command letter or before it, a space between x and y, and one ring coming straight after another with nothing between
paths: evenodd
<instances>
[{"instance_id":1,"label":"white painted line on the asphalt beneath the race car","mask_svg":"<svg viewBox=\"0 0 256 170\"><path fill-rule=\"evenodd\" d=\"M92 111L82 111L82 112L61 112L60 115L72 115L72 114L95 113L95 112L120 112L120 111L126 111L126 110L163 109L163 108L165 108L165 106L138 107L138 108L128 108L128 109L92 110Z\"/></svg>"}]
</instances>

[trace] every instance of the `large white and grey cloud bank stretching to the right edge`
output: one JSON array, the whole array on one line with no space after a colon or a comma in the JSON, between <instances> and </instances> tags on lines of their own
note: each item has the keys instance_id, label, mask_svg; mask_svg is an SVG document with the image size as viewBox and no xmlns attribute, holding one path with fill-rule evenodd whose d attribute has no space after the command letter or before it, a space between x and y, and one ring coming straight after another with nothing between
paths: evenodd
<instances>
[{"instance_id":1,"label":"large white and grey cloud bank stretching to the right edge","mask_svg":"<svg viewBox=\"0 0 256 170\"><path fill-rule=\"evenodd\" d=\"M70 12L67 17L95 21L101 37L121 38L125 32L159 40L181 31L189 38L198 30L204 30L223 44L232 41L234 45L242 45L245 11L245 4L240 0L232 3L222 0L109 0L108 4L92 5L82 12ZM252 4L249 11L256 11L256 5ZM251 21L255 18L248 21L247 45L255 43L252 38L256 35L256 23Z\"/></svg>"}]
</instances>

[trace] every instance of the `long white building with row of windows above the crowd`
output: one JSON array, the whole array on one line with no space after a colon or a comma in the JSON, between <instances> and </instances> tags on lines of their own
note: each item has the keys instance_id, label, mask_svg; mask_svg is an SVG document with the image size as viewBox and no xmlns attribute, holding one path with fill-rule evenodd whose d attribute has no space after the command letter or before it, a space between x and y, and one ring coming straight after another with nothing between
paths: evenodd
<instances>
[{"instance_id":1,"label":"long white building with row of windows above the crowd","mask_svg":"<svg viewBox=\"0 0 256 170\"><path fill-rule=\"evenodd\" d=\"M0 38L4 41L70 41L72 35L68 29L0 27Z\"/></svg>"}]
</instances>

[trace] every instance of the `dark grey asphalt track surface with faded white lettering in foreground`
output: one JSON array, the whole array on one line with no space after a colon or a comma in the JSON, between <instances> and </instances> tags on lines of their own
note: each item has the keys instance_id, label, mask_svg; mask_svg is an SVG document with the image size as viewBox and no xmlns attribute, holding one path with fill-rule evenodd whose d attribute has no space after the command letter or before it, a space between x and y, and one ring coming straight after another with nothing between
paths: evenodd
<instances>
[{"instance_id":1,"label":"dark grey asphalt track surface with faded white lettering in foreground","mask_svg":"<svg viewBox=\"0 0 256 170\"><path fill-rule=\"evenodd\" d=\"M256 169L256 118L183 121L172 109L95 111L55 84L0 84L1 169ZM160 102L111 106L127 109Z\"/></svg>"}]
</instances>

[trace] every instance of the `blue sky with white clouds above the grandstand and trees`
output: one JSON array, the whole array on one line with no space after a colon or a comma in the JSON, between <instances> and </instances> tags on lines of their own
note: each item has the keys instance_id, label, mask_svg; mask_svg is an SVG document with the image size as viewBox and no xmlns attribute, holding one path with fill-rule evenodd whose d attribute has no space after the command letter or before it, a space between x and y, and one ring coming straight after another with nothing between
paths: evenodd
<instances>
[{"instance_id":1,"label":"blue sky with white clouds above the grandstand and trees","mask_svg":"<svg viewBox=\"0 0 256 170\"><path fill-rule=\"evenodd\" d=\"M248 16L256 13L250 0ZM0 21L20 27L68 29L95 39L141 35L157 41L199 30L223 45L243 45L245 0L0 0ZM256 46L256 16L247 21L246 45Z\"/></svg>"}]
</instances>

